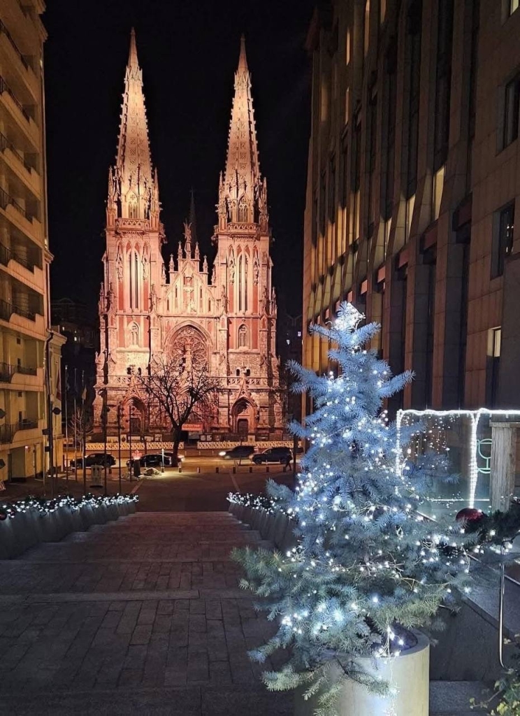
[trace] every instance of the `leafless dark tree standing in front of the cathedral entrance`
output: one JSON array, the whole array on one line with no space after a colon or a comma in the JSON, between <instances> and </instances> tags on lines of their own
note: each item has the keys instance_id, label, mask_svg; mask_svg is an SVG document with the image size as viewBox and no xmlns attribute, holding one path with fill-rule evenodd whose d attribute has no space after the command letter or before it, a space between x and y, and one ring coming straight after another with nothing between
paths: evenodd
<instances>
[{"instance_id":1,"label":"leafless dark tree standing in front of the cathedral entrance","mask_svg":"<svg viewBox=\"0 0 520 716\"><path fill-rule=\"evenodd\" d=\"M172 425L172 450L179 450L183 426L195 415L205 420L215 414L220 382L212 377L206 364L161 355L152 361L149 375L137 376L149 399L150 410Z\"/></svg>"}]
</instances>

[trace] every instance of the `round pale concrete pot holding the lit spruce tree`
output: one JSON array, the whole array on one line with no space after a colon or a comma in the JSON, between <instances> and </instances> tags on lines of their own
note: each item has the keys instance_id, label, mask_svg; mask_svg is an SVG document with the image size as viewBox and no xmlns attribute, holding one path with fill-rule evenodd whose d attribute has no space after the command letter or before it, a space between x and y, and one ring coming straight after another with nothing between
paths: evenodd
<instances>
[{"instance_id":1,"label":"round pale concrete pot holding the lit spruce tree","mask_svg":"<svg viewBox=\"0 0 520 716\"><path fill-rule=\"evenodd\" d=\"M430 643L421 632L413 632L417 644L393 659L378 659L378 668L368 658L355 659L367 672L391 684L395 694L386 697L368 691L355 681L346 682L338 696L336 709L341 716L428 716L430 686ZM340 677L339 665L333 673ZM295 716L313 716L316 697L305 701L303 692L295 694Z\"/></svg>"}]
</instances>

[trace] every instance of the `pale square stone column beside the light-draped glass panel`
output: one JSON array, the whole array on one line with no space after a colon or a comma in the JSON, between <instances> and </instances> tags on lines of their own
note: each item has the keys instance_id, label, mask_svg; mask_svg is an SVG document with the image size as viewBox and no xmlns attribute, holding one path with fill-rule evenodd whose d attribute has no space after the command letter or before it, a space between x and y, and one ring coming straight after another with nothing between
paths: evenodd
<instances>
[{"instance_id":1,"label":"pale square stone column beside the light-draped glass panel","mask_svg":"<svg viewBox=\"0 0 520 716\"><path fill-rule=\"evenodd\" d=\"M519 422L491 422L491 508L509 509L514 492L516 429Z\"/></svg>"}]
</instances>

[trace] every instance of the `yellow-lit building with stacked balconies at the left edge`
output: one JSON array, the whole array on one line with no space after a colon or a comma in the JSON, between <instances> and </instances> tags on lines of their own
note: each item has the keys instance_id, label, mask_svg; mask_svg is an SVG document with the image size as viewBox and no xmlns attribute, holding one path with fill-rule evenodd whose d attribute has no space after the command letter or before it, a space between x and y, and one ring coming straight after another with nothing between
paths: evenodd
<instances>
[{"instance_id":1,"label":"yellow-lit building with stacked balconies at the left edge","mask_svg":"<svg viewBox=\"0 0 520 716\"><path fill-rule=\"evenodd\" d=\"M44 8L40 0L0 0L0 480L48 468L46 387L61 408L61 341L49 332Z\"/></svg>"}]
</instances>

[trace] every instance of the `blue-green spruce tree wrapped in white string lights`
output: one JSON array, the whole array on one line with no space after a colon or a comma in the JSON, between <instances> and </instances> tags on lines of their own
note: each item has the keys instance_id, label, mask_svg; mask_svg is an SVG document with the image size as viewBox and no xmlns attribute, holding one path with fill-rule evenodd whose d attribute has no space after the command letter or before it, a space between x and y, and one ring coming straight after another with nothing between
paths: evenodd
<instances>
[{"instance_id":1,"label":"blue-green spruce tree wrapped in white string lights","mask_svg":"<svg viewBox=\"0 0 520 716\"><path fill-rule=\"evenodd\" d=\"M420 513L425 488L446 465L433 455L412 464L396 460L396 430L383 401L412 379L393 377L366 345L379 331L351 304L330 327L313 331L332 348L338 375L317 376L299 364L293 390L306 392L314 412L292 426L309 441L295 491L269 483L274 508L295 521L298 546L280 554L245 548L233 553L245 569L242 587L262 597L259 609L278 621L268 643L250 652L265 662L278 649L288 661L264 673L270 690L304 686L319 692L323 716L348 679L385 694L391 687L360 657L397 657L413 644L412 629L441 628L441 606L469 591L469 556L460 526L431 522ZM417 428L415 428L417 430ZM411 433L401 432L401 449ZM342 676L331 681L331 664Z\"/></svg>"}]
</instances>

